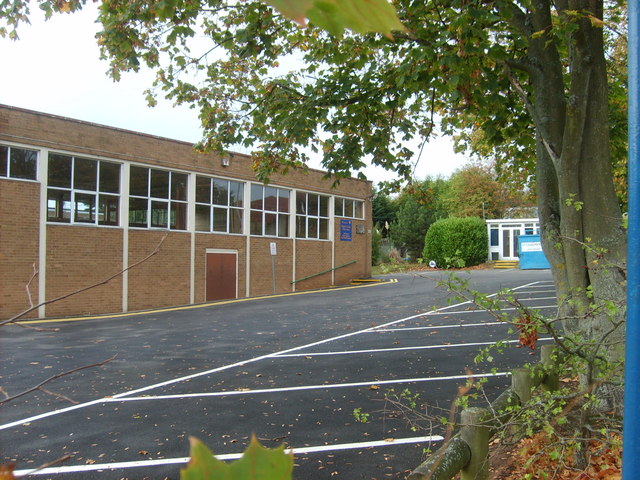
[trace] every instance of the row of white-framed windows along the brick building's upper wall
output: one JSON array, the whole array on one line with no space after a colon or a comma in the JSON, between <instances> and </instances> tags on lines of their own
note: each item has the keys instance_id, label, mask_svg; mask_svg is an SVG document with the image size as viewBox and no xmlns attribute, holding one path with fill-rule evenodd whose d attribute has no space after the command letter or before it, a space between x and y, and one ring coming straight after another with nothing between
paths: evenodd
<instances>
[{"instance_id":1,"label":"row of white-framed windows along the brick building's upper wall","mask_svg":"<svg viewBox=\"0 0 640 480\"><path fill-rule=\"evenodd\" d=\"M56 223L120 225L121 164L58 153L49 154L47 220ZM37 151L0 145L0 177L36 180ZM188 175L132 165L129 169L129 226L187 229ZM242 234L245 184L196 175L195 229ZM251 184L249 233L289 237L290 204L295 201L296 238L329 238L329 197ZM334 199L334 215L363 219L364 202Z\"/></svg>"}]
</instances>

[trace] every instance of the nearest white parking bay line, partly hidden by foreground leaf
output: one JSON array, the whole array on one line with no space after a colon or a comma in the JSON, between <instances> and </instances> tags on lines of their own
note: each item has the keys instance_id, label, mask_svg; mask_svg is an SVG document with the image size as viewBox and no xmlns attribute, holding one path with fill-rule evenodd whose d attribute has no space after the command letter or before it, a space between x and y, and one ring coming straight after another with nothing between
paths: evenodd
<instances>
[{"instance_id":1,"label":"nearest white parking bay line, partly hidden by foreground leaf","mask_svg":"<svg viewBox=\"0 0 640 480\"><path fill-rule=\"evenodd\" d=\"M358 448L372 447L392 447L394 445L407 445L412 443L435 443L444 440L440 435L430 435L426 437L409 437L409 438L388 438L385 440L374 440L370 442L359 443L341 443L337 445L318 445L314 447L288 448L285 453L293 453L294 455L303 455L318 452L333 452L341 450L356 450ZM229 453L226 455L216 455L218 460L236 460L242 456L242 453ZM140 460L136 462L113 462L113 463L94 463L93 465L76 465L68 467L49 467L42 470L16 470L14 475L55 475L58 473L77 473L92 472L96 470L115 470L136 467L158 467L162 465L185 465L189 461L189 457L179 458L160 458L157 460Z\"/></svg>"}]
</instances>

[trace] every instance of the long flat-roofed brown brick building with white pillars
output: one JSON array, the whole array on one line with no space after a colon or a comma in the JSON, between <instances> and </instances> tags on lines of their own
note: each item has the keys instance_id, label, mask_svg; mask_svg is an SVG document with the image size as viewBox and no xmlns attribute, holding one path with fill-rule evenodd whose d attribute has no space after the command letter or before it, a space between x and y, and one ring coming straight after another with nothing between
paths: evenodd
<instances>
[{"instance_id":1,"label":"long flat-roofed brown brick building with white pillars","mask_svg":"<svg viewBox=\"0 0 640 480\"><path fill-rule=\"evenodd\" d=\"M39 304L116 275L29 315L57 317L370 275L370 182L332 188L309 170L263 185L250 165L242 154L0 105L0 319L29 306L32 276Z\"/></svg>"}]
</instances>

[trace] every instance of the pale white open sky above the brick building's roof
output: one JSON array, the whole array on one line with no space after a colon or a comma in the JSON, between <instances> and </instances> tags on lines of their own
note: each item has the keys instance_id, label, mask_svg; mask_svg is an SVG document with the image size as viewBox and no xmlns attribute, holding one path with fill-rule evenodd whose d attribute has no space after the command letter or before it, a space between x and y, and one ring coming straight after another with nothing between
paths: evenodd
<instances>
[{"instance_id":1,"label":"pale white open sky above the brick building's roof","mask_svg":"<svg viewBox=\"0 0 640 480\"><path fill-rule=\"evenodd\" d=\"M33 5L31 25L18 29L20 39L0 38L0 104L175 140L200 140L197 110L162 98L156 107L147 106L143 92L153 82L151 71L123 74L117 83L107 76L108 63L100 60L95 40L95 17L96 6L88 2L82 12L54 15L45 22ZM425 146L415 176L447 177L466 162L453 152L449 139L436 138ZM318 160L311 166L321 168ZM381 168L364 173L374 182L393 178Z\"/></svg>"}]
</instances>

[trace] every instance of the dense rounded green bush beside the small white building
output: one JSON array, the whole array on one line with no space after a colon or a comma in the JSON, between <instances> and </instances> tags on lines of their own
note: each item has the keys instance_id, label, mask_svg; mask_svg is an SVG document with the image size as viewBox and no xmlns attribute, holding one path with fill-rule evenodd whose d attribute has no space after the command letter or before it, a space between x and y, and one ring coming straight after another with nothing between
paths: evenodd
<instances>
[{"instance_id":1,"label":"dense rounded green bush beside the small white building","mask_svg":"<svg viewBox=\"0 0 640 480\"><path fill-rule=\"evenodd\" d=\"M445 218L429 227L422 257L440 268L470 267L487 260L488 242L481 218Z\"/></svg>"}]
</instances>

